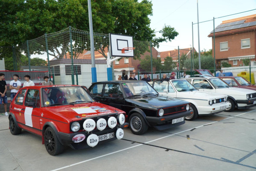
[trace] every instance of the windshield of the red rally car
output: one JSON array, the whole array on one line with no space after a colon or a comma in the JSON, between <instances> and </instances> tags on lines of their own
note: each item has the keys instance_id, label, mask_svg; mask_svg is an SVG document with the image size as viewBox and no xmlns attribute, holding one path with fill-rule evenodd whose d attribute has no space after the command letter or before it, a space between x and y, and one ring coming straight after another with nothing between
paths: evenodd
<instances>
[{"instance_id":1,"label":"windshield of the red rally car","mask_svg":"<svg viewBox=\"0 0 256 171\"><path fill-rule=\"evenodd\" d=\"M44 106L93 102L84 88L78 86L43 88L42 93Z\"/></svg>"}]
</instances>

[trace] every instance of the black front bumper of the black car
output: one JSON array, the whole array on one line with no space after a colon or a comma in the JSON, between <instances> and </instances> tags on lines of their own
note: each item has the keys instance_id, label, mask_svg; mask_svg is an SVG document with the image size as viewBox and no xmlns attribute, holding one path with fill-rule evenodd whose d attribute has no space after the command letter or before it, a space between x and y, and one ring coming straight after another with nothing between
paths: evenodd
<instances>
[{"instance_id":1,"label":"black front bumper of the black car","mask_svg":"<svg viewBox=\"0 0 256 171\"><path fill-rule=\"evenodd\" d=\"M172 120L180 118L180 117L186 117L189 114L193 112L192 110L180 112L177 114L170 114L162 117L146 117L146 120L148 123L150 123L151 126L154 126L157 130L164 130L168 128L172 128L178 125L182 125L185 123L185 120L179 123L172 124Z\"/></svg>"}]
</instances>

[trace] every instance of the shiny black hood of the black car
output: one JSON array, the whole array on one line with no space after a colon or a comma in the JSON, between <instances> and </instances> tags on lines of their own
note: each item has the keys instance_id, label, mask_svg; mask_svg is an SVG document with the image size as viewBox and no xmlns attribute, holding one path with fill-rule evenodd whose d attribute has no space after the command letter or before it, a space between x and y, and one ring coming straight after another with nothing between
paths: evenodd
<instances>
[{"instance_id":1,"label":"shiny black hood of the black car","mask_svg":"<svg viewBox=\"0 0 256 171\"><path fill-rule=\"evenodd\" d=\"M145 108L165 108L170 106L176 106L176 105L184 105L188 104L189 102L184 100L178 100L171 97L165 97L165 96L148 96L148 97L137 97L134 99L125 99L127 102L133 103L134 105L145 107Z\"/></svg>"}]
</instances>

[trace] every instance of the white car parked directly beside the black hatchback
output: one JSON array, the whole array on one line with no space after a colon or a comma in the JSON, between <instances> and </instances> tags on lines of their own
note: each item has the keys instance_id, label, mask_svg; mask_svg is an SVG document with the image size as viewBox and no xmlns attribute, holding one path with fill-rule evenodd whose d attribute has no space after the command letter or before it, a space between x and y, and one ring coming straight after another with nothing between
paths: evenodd
<instances>
[{"instance_id":1,"label":"white car parked directly beside the black hatchback","mask_svg":"<svg viewBox=\"0 0 256 171\"><path fill-rule=\"evenodd\" d=\"M156 80L152 87L163 96L190 102L194 114L187 116L186 120L216 114L231 106L227 103L227 95L198 91L186 80Z\"/></svg>"}]
</instances>

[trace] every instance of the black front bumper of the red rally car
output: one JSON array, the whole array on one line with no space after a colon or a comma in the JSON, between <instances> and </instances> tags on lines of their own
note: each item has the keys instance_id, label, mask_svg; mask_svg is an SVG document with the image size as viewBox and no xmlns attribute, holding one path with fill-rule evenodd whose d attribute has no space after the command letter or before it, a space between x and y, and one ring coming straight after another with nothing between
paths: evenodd
<instances>
[{"instance_id":1,"label":"black front bumper of the red rally car","mask_svg":"<svg viewBox=\"0 0 256 171\"><path fill-rule=\"evenodd\" d=\"M90 147L89 145L87 145L87 137L90 135L90 134L96 134L97 136L99 135L104 135L104 134L108 134L108 133L114 133L114 137L113 138L110 138L110 139L107 139L107 140L103 140L103 141L99 141L98 144L102 144L103 142L108 142L108 141L113 141L113 140L116 140L116 130L118 128L125 128L125 125L129 125L128 123L124 123L123 125L119 125L119 126L116 126L115 128L112 128L112 129L105 129L103 131L99 131L99 130L94 130L92 132L90 132L88 134L87 131L80 131L80 132L75 132L75 133L71 133L71 134L68 134L68 133L63 133L63 132L58 132L58 137L60 139L60 142L63 144L63 145L69 145L71 148L73 149L83 149L83 148L88 148ZM126 126L127 128L128 126ZM75 137L76 135L78 134L83 134L85 136L85 139L81 142L73 142L73 137Z\"/></svg>"}]
</instances>

